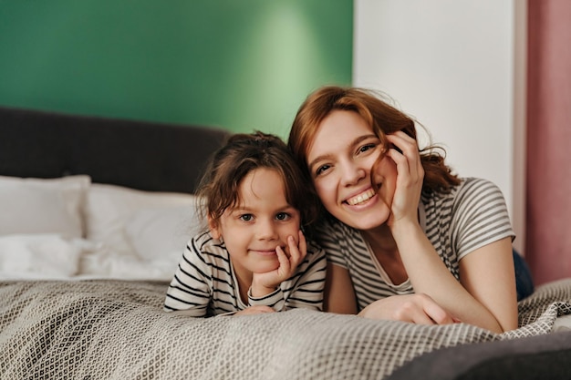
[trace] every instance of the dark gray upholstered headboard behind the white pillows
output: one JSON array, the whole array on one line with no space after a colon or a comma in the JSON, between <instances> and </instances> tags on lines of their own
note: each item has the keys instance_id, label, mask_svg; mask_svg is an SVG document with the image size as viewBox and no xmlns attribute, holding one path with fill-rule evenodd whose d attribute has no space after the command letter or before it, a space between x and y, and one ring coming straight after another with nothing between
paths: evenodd
<instances>
[{"instance_id":1,"label":"dark gray upholstered headboard behind the white pillows","mask_svg":"<svg viewBox=\"0 0 571 380\"><path fill-rule=\"evenodd\" d=\"M193 192L230 132L0 107L0 175L56 178L139 190Z\"/></svg>"}]
</instances>

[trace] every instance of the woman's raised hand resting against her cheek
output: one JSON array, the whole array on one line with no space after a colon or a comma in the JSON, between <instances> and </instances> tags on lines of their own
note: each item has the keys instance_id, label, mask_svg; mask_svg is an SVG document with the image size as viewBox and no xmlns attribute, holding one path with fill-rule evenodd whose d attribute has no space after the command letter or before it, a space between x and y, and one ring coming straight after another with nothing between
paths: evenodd
<instances>
[{"instance_id":1,"label":"woman's raised hand resting against her cheek","mask_svg":"<svg viewBox=\"0 0 571 380\"><path fill-rule=\"evenodd\" d=\"M418 221L417 210L424 180L419 146L415 139L402 131L387 135L387 139L402 152L395 148L387 152L387 156L397 164L397 183L388 224L391 226L402 219Z\"/></svg>"}]
</instances>

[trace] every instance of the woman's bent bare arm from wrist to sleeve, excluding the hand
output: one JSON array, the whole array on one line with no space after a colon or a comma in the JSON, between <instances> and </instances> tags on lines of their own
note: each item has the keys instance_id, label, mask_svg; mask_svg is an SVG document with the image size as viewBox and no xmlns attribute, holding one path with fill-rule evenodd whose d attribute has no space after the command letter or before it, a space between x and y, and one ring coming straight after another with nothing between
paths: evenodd
<instances>
[{"instance_id":1,"label":"woman's bent bare arm from wrist to sleeve, excluding the hand","mask_svg":"<svg viewBox=\"0 0 571 380\"><path fill-rule=\"evenodd\" d=\"M466 276L468 279L458 282L420 228L398 226L393 233L416 293L430 295L464 323L495 333L517 328L514 263L511 244L507 244L510 238L488 244L462 259L461 278ZM509 256L505 259L507 245ZM484 254L481 256L481 253ZM472 258L464 262L470 256ZM496 268L490 272L494 266ZM496 271L504 271L504 274L498 277Z\"/></svg>"}]
</instances>

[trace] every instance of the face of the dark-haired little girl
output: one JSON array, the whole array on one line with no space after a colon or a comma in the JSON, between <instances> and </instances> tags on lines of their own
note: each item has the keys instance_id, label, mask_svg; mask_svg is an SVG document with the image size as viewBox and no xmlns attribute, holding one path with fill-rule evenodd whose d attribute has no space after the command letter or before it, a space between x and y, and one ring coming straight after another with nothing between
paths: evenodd
<instances>
[{"instance_id":1,"label":"face of the dark-haired little girl","mask_svg":"<svg viewBox=\"0 0 571 380\"><path fill-rule=\"evenodd\" d=\"M279 267L275 247L289 255L287 237L298 242L300 214L285 200L284 182L272 169L254 169L239 186L240 204L224 211L213 237L223 238L236 274L250 278L253 272Z\"/></svg>"}]
</instances>

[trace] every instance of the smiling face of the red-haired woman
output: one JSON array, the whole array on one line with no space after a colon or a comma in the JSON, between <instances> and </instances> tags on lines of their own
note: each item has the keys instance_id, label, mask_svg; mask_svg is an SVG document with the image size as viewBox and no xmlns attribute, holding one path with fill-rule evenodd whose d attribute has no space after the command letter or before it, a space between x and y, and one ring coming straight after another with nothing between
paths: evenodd
<instances>
[{"instance_id":1,"label":"smiling face of the red-haired woman","mask_svg":"<svg viewBox=\"0 0 571 380\"><path fill-rule=\"evenodd\" d=\"M370 170L383 145L357 112L334 110L324 118L307 152L307 166L324 207L358 230L379 227L389 219L397 169L380 160L371 186Z\"/></svg>"}]
</instances>

